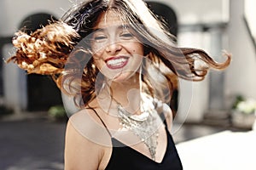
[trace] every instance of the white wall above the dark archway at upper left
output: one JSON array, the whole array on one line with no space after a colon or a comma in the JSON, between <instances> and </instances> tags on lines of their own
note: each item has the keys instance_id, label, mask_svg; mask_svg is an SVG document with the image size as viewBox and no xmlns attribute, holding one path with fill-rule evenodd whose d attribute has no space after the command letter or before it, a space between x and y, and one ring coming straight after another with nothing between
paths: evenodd
<instances>
[{"instance_id":1,"label":"white wall above the dark archway at upper left","mask_svg":"<svg viewBox=\"0 0 256 170\"><path fill-rule=\"evenodd\" d=\"M72 3L69 0L1 0L0 36L13 35L18 29L20 21L27 16L37 13L53 14L61 17Z\"/></svg>"}]
</instances>

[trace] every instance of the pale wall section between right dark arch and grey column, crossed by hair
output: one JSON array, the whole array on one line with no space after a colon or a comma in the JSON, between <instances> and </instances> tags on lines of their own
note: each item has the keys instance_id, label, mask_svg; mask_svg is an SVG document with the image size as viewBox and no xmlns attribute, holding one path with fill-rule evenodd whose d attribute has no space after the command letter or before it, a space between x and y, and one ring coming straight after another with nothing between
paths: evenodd
<instances>
[{"instance_id":1,"label":"pale wall section between right dark arch and grey column, crossed by hair","mask_svg":"<svg viewBox=\"0 0 256 170\"><path fill-rule=\"evenodd\" d=\"M209 51L211 37L207 32L184 31L178 34L178 44L182 47L204 48ZM202 82L188 82L181 80L180 100L187 100L183 105L180 103L179 119L186 118L185 121L201 121L205 111L208 109L209 77Z\"/></svg>"}]
</instances>

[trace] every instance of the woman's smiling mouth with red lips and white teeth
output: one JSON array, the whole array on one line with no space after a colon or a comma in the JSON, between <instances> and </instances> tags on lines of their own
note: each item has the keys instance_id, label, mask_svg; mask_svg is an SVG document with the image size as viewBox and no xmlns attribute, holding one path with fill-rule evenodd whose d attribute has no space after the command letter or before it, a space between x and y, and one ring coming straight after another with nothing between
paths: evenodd
<instances>
[{"instance_id":1,"label":"woman's smiling mouth with red lips and white teeth","mask_svg":"<svg viewBox=\"0 0 256 170\"><path fill-rule=\"evenodd\" d=\"M120 56L120 57L112 57L106 59L105 62L109 69L121 69L125 67L128 63L128 57Z\"/></svg>"}]
</instances>

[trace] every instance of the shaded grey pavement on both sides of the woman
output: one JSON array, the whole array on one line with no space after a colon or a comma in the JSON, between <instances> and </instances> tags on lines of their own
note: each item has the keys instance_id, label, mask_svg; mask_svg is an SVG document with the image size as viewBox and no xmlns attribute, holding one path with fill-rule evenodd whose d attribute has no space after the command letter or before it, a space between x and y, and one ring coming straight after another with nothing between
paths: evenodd
<instances>
[{"instance_id":1,"label":"shaded grey pavement on both sides of the woman","mask_svg":"<svg viewBox=\"0 0 256 170\"><path fill-rule=\"evenodd\" d=\"M45 117L0 120L0 170L63 169L66 122ZM183 125L173 133L176 143L217 133L224 127Z\"/></svg>"}]
</instances>

